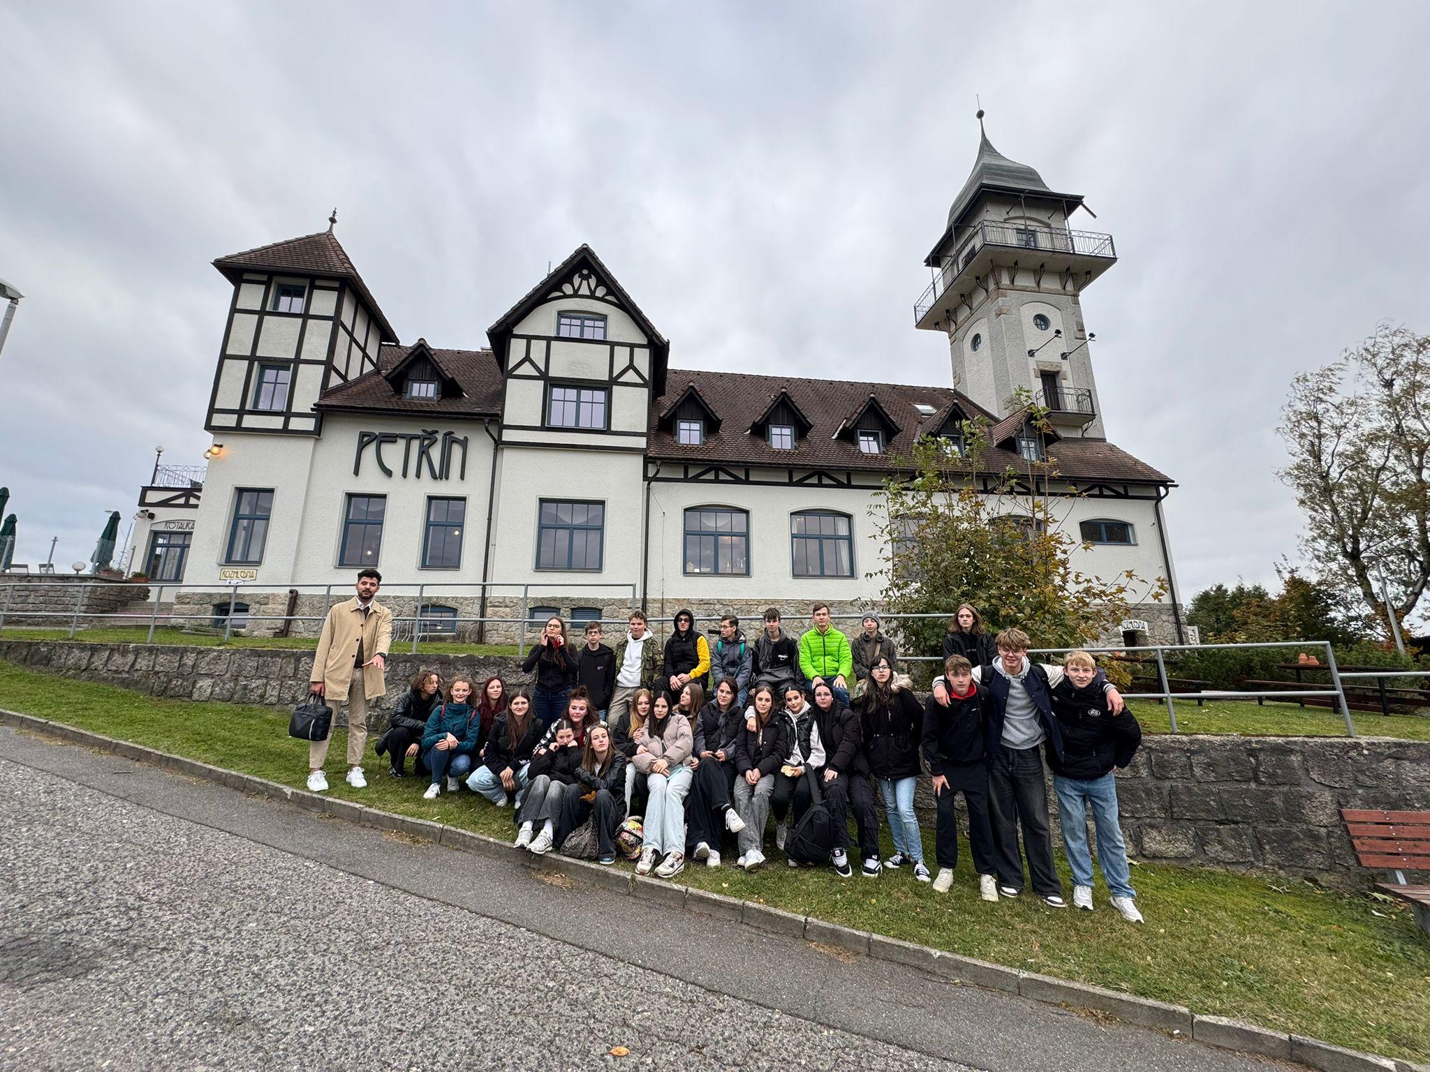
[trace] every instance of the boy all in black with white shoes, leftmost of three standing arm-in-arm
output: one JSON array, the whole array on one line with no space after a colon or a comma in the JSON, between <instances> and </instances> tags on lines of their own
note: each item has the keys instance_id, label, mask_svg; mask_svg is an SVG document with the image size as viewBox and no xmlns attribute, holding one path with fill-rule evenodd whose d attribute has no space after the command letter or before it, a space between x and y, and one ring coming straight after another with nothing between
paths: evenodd
<instances>
[{"instance_id":1,"label":"boy all in black with white shoes, leftmost of three standing arm-in-arm","mask_svg":"<svg viewBox=\"0 0 1430 1072\"><path fill-rule=\"evenodd\" d=\"M938 875L934 889L947 893L958 866L958 813L954 798L964 795L968 808L968 846L978 872L978 896L998 899L994 879L992 826L988 823L988 735L992 732L992 696L974 682L974 667L961 655L944 660L950 686L948 706L932 696L924 705L924 759L934 776L938 805Z\"/></svg>"}]
</instances>

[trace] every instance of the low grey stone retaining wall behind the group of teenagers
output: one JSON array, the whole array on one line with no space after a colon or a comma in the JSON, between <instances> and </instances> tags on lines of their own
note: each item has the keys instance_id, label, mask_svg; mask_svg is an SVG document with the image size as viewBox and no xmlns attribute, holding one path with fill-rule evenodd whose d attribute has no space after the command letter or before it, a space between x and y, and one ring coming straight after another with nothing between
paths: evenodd
<instances>
[{"instance_id":1,"label":"low grey stone retaining wall behind the group of teenagers","mask_svg":"<svg viewBox=\"0 0 1430 1072\"><path fill-rule=\"evenodd\" d=\"M307 692L312 652L0 642L0 659L156 696L286 706ZM393 653L388 702L419 667L446 679L526 678L512 656ZM372 723L382 728L379 715ZM1123 830L1143 860L1274 872L1363 888L1341 808L1430 809L1430 742L1383 738L1167 736L1118 772ZM1057 822L1057 800L1048 789ZM915 803L932 819L928 779Z\"/></svg>"}]
</instances>

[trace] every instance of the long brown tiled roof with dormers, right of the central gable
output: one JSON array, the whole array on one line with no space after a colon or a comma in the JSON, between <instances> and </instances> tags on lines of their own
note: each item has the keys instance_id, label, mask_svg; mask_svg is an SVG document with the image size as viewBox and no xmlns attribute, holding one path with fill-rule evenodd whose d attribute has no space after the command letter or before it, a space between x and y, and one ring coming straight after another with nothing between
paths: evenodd
<instances>
[{"instance_id":1,"label":"long brown tiled roof with dormers, right of the central gable","mask_svg":"<svg viewBox=\"0 0 1430 1072\"><path fill-rule=\"evenodd\" d=\"M950 387L922 387L908 383L848 383L829 380L791 379L788 376L759 376L735 372L694 372L672 369L671 383L676 394L686 384L695 384L701 396L719 413L724 423L718 430L706 429L705 442L685 446L675 442L675 435L652 420L649 455L675 462L718 462L731 465L758 465L785 467L789 465L824 469L888 470L889 457L912 453L914 440L924 433L937 430L957 403L970 417L994 415L975 402ZM789 399L811 422L811 429L799 437L795 450L776 450L759 435L751 433L751 423L769 409L771 396L788 392ZM835 439L841 422L855 409L862 409L868 396L874 394L899 432L889 437L887 453L864 455L857 442ZM655 399L652 415L666 409L672 399ZM915 409L917 403L934 406L935 413L924 417ZM1015 416L1014 427L1021 422ZM1007 423L1000 422L1000 423ZM1107 440L1062 439L1050 452L1060 475L1067 480L1127 480L1135 483L1171 483L1163 473L1138 462L1127 452ZM1011 450L991 447L984 456L984 470L998 473L1008 466L1022 467L1025 463Z\"/></svg>"}]
</instances>

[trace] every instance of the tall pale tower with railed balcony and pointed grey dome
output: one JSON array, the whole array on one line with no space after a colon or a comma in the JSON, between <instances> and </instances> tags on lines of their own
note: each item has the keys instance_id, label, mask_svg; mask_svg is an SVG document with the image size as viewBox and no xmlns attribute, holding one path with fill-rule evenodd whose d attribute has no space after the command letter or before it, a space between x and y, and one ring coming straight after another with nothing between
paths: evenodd
<instances>
[{"instance_id":1,"label":"tall pale tower with railed balcony and pointed grey dome","mask_svg":"<svg viewBox=\"0 0 1430 1072\"><path fill-rule=\"evenodd\" d=\"M924 262L934 282L914 323L945 332L954 386L1007 416L1020 389L1057 433L1104 437L1078 294L1115 260L1113 236L1072 230L1081 194L1057 193L1002 156L982 129L978 159Z\"/></svg>"}]
</instances>

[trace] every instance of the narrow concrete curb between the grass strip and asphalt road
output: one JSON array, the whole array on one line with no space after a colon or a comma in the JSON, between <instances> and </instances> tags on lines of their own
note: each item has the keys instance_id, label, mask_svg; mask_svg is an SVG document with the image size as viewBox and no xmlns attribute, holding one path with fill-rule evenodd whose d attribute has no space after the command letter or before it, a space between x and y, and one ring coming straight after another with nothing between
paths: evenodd
<instances>
[{"instance_id":1,"label":"narrow concrete curb between the grass strip and asphalt road","mask_svg":"<svg viewBox=\"0 0 1430 1072\"><path fill-rule=\"evenodd\" d=\"M392 812L366 808L350 800L325 798L319 793L309 793L305 789L295 789L265 778L226 770L186 756L176 756L169 752L134 745L129 740L92 733L63 722L50 722L33 715L21 715L0 708L0 725L37 730L69 743L109 752L137 763L169 768L190 778L200 778L245 793L292 803L312 812L346 819L360 826L422 838L433 845L443 845L450 849L506 860L508 863L521 863L533 870L555 872L578 882L623 892L631 896L649 898L672 908L685 908L721 919L738 920L746 926L771 933L848 949L874 959L915 968L954 983L980 986L1004 993L1018 993L1030 1001L1104 1012L1127 1023L1190 1036L1197 1042L1221 1049L1291 1059L1320 1072L1386 1072L1387 1069L1390 1072L1427 1072L1424 1065L1344 1049L1318 1039L1270 1031L1224 1016L1193 1015L1190 1009L1180 1005L1168 1005L1150 998L1138 998L1101 986L1055 979L1035 972L1022 972L1017 968L1005 968L1004 965L950 953L915 942L905 942L868 930L829 923L814 916L801 916L754 900L739 900L738 898L728 898L721 893L674 885L662 879L629 875L625 870L603 868L599 863L588 860L578 860L556 853L532 856L505 840L489 838L483 833L459 830L429 819L393 815Z\"/></svg>"}]
</instances>

